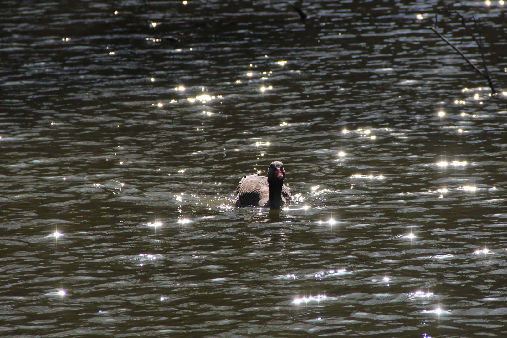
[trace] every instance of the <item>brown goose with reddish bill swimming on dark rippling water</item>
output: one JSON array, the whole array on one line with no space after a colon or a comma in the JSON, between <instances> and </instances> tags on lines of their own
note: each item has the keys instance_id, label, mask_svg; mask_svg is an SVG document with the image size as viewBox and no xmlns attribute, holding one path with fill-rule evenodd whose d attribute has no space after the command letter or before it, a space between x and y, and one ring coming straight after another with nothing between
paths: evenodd
<instances>
[{"instance_id":1,"label":"brown goose with reddish bill swimming on dark rippling water","mask_svg":"<svg viewBox=\"0 0 507 338\"><path fill-rule=\"evenodd\" d=\"M272 162L266 176L244 176L236 188L236 207L269 206L271 209L280 209L292 200L291 191L283 184L285 170L283 163Z\"/></svg>"}]
</instances>

